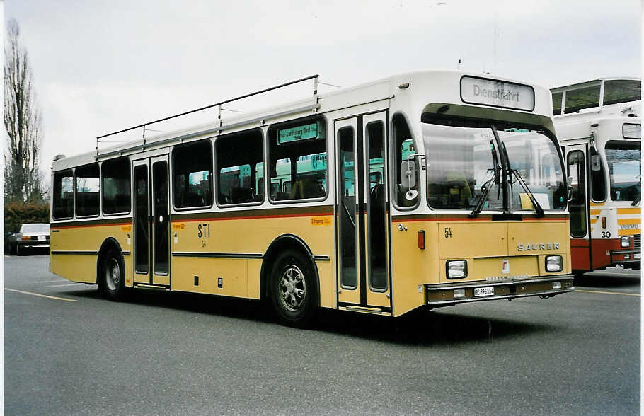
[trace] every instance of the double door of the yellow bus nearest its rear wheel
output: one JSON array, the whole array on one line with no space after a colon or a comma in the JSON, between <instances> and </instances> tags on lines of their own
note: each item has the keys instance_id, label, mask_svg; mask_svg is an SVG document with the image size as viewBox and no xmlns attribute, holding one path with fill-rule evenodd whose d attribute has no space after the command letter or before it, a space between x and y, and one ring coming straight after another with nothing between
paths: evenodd
<instances>
[{"instance_id":1,"label":"double door of the yellow bus nearest its rear wheel","mask_svg":"<svg viewBox=\"0 0 644 416\"><path fill-rule=\"evenodd\" d=\"M168 156L132 162L134 284L170 285Z\"/></svg>"}]
</instances>

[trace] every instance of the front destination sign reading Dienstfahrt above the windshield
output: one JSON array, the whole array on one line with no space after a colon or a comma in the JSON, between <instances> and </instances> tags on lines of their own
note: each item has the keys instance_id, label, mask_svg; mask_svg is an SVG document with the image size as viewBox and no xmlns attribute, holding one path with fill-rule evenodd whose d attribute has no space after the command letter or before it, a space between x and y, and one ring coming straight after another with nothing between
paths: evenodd
<instances>
[{"instance_id":1,"label":"front destination sign reading Dienstfahrt above the windshield","mask_svg":"<svg viewBox=\"0 0 644 416\"><path fill-rule=\"evenodd\" d=\"M534 110L534 88L519 83L464 76L461 78L461 100L464 103Z\"/></svg>"}]
</instances>

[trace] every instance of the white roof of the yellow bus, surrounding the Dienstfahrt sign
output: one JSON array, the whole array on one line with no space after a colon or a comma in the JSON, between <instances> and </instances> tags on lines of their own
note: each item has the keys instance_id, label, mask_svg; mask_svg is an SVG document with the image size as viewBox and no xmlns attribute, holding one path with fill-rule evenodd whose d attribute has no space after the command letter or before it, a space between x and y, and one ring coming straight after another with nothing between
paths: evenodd
<instances>
[{"instance_id":1,"label":"white roof of the yellow bus, surrounding the Dienstfahrt sign","mask_svg":"<svg viewBox=\"0 0 644 416\"><path fill-rule=\"evenodd\" d=\"M272 108L237 115L226 118L226 120L222 119L221 125L218 120L215 120L215 122L205 125L158 134L146 139L127 141L127 143L105 149L98 149L97 146L97 151L57 158L52 162L52 169L59 171L92 163L97 159L103 160L105 158L138 153L143 149L159 149L183 141L217 137L219 134L224 134L224 132L229 133L243 129L263 127L306 115L324 114L367 103L385 102L386 100L389 100L391 107L397 110L403 112L418 112L418 118L420 118L422 109L429 103L454 103L489 108L490 105L485 103L473 104L464 100L461 95L461 79L464 77L480 79L483 82L501 81L502 83L510 85L531 88L531 91L534 93L533 108L520 110L505 108L505 110L522 113L529 112L535 115L551 117L552 103L550 91L547 88L534 85L533 83L466 71L439 69L410 71L384 79L362 83L357 86L342 88L318 96L311 96L303 100L277 105ZM419 93L419 91L421 92Z\"/></svg>"}]
</instances>

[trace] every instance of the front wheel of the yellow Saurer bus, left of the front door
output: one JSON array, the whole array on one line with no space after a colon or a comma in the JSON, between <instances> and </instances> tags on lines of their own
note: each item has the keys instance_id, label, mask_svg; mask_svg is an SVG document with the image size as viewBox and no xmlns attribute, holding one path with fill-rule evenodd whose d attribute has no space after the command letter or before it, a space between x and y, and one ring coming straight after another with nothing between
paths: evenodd
<instances>
[{"instance_id":1,"label":"front wheel of the yellow Saurer bus, left of the front door","mask_svg":"<svg viewBox=\"0 0 644 416\"><path fill-rule=\"evenodd\" d=\"M270 274L270 298L284 325L310 328L317 316L317 294L310 261L293 250L277 256Z\"/></svg>"}]
</instances>

